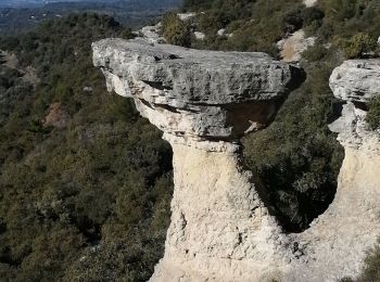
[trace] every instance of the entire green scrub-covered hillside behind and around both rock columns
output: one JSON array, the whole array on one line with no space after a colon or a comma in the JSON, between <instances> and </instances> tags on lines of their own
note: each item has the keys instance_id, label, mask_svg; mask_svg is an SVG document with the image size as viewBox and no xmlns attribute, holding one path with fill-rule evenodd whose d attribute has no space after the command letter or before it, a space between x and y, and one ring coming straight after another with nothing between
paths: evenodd
<instances>
[{"instance_id":1,"label":"entire green scrub-covered hillside behind and around both rock columns","mask_svg":"<svg viewBox=\"0 0 380 282\"><path fill-rule=\"evenodd\" d=\"M303 28L318 38L301 61L306 82L270 127L243 141L245 164L262 180L271 211L288 232L305 230L331 203L343 158L327 128L340 108L328 78L345 57L373 51L379 1L320 0L306 8L301 0L187 0L185 10L198 12L193 23L170 16L163 31L193 48L279 57L276 42L287 35ZM190 29L205 40L186 38ZM106 92L90 51L105 37L131 33L87 13L0 38L4 281L145 281L163 255L172 151L129 100ZM378 260L377 253L370 258Z\"/></svg>"}]
</instances>

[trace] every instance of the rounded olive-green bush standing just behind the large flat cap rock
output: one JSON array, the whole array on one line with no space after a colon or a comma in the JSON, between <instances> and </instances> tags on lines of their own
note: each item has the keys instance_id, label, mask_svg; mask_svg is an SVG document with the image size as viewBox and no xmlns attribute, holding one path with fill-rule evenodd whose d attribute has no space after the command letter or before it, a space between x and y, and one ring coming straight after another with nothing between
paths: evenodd
<instances>
[{"instance_id":1,"label":"rounded olive-green bush standing just behind the large flat cap rock","mask_svg":"<svg viewBox=\"0 0 380 282\"><path fill-rule=\"evenodd\" d=\"M174 12L166 13L162 20L162 31L170 44L189 47L191 44L190 26Z\"/></svg>"}]
</instances>

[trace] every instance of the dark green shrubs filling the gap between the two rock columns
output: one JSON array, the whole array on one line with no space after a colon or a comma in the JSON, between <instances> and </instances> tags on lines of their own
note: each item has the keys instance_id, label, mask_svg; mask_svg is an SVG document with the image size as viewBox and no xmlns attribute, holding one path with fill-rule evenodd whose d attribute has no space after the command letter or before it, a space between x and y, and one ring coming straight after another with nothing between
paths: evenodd
<instances>
[{"instance_id":1,"label":"dark green shrubs filling the gap between the two rock columns","mask_svg":"<svg viewBox=\"0 0 380 282\"><path fill-rule=\"evenodd\" d=\"M275 123L244 139L248 165L263 182L267 205L287 230L299 232L331 203L343 150L327 128L333 97L331 68L309 79L282 105Z\"/></svg>"}]
</instances>

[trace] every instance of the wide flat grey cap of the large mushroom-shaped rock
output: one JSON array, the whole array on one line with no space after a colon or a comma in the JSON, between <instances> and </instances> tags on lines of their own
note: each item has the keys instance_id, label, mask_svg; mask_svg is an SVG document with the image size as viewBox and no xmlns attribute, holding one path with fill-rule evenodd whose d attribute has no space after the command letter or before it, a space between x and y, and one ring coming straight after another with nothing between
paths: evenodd
<instances>
[{"instance_id":1,"label":"wide flat grey cap of the large mushroom-shaped rock","mask_svg":"<svg viewBox=\"0 0 380 282\"><path fill-rule=\"evenodd\" d=\"M293 65L265 53L192 50L141 39L92 44L109 91L135 99L166 133L238 139L267 125L301 79Z\"/></svg>"}]
</instances>

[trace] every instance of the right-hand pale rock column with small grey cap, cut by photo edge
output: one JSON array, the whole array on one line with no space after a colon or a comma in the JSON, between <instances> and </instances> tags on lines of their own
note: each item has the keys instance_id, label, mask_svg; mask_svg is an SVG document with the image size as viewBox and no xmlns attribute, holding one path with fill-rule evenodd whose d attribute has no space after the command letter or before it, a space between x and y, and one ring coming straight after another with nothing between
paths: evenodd
<instances>
[{"instance_id":1,"label":"right-hand pale rock column with small grey cap, cut by photo edge","mask_svg":"<svg viewBox=\"0 0 380 282\"><path fill-rule=\"evenodd\" d=\"M338 132L345 156L334 201L297 236L300 245L307 245L308 262L293 264L295 280L355 278L380 235L380 139L365 123L368 101L380 94L379 79L380 60L345 61L332 72L330 88L344 104L329 127Z\"/></svg>"}]
</instances>

